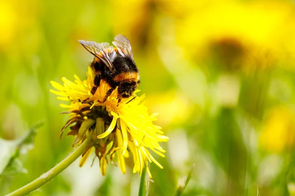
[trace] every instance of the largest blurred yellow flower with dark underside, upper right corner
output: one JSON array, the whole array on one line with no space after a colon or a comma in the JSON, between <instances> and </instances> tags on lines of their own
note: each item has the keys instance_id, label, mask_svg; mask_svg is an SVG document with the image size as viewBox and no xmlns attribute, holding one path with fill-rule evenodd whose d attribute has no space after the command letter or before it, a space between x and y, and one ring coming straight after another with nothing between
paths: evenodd
<instances>
[{"instance_id":1,"label":"largest blurred yellow flower with dark underside, upper right corner","mask_svg":"<svg viewBox=\"0 0 295 196\"><path fill-rule=\"evenodd\" d=\"M213 0L193 3L176 21L177 44L195 59L211 58L244 71L294 59L294 3ZM197 10L197 11L196 11ZM222 62L220 62L222 61Z\"/></svg>"}]
</instances>

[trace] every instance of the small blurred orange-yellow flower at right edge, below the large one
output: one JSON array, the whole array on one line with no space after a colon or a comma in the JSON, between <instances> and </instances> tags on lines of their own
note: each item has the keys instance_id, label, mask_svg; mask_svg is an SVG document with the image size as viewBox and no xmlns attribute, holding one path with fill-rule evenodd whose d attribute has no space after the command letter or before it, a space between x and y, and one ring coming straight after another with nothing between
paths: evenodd
<instances>
[{"instance_id":1,"label":"small blurred orange-yellow flower at right edge, below the large one","mask_svg":"<svg viewBox=\"0 0 295 196\"><path fill-rule=\"evenodd\" d=\"M294 145L295 124L292 116L287 107L278 106L271 110L259 138L263 149L276 153Z\"/></svg>"}]
</instances>

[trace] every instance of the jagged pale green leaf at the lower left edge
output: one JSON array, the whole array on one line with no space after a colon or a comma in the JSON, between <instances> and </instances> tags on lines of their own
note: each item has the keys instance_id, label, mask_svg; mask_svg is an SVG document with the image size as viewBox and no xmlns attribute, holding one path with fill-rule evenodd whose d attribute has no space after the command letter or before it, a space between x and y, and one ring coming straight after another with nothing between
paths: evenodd
<instances>
[{"instance_id":1,"label":"jagged pale green leaf at the lower left edge","mask_svg":"<svg viewBox=\"0 0 295 196\"><path fill-rule=\"evenodd\" d=\"M27 133L16 140L4 140L0 138L0 175L12 175L27 172L22 162L17 159L20 151L26 152L33 146L36 128L43 123L32 126Z\"/></svg>"}]
</instances>

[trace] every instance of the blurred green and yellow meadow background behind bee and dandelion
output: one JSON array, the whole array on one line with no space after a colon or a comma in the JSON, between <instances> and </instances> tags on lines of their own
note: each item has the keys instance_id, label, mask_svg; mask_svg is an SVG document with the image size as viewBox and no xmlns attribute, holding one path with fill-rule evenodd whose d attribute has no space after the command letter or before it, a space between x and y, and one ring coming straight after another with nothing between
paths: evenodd
<instances>
[{"instance_id":1,"label":"blurred green and yellow meadow background behind bee and dandelion","mask_svg":"<svg viewBox=\"0 0 295 196\"><path fill-rule=\"evenodd\" d=\"M0 176L5 195L72 152L67 120L49 93L92 55L78 39L129 38L150 113L170 138L164 166L151 164L150 196L295 195L295 4L293 0L4 0L0 3L0 137L34 123L27 173ZM0 152L1 153L1 152ZM137 195L140 177L98 160L66 171L30 195Z\"/></svg>"}]
</instances>

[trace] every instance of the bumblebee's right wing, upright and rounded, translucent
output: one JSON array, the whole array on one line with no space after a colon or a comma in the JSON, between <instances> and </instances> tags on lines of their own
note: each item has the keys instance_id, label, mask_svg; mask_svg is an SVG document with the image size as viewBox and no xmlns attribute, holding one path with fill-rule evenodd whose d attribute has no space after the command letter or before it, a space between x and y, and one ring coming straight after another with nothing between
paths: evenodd
<instances>
[{"instance_id":1,"label":"bumblebee's right wing, upright and rounded, translucent","mask_svg":"<svg viewBox=\"0 0 295 196\"><path fill-rule=\"evenodd\" d=\"M116 35L115 41L113 42L114 46L117 47L119 53L123 56L129 56L132 60L133 54L131 49L131 44L129 40L124 35Z\"/></svg>"}]
</instances>

